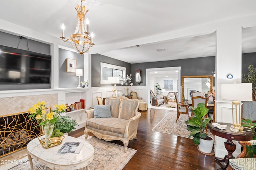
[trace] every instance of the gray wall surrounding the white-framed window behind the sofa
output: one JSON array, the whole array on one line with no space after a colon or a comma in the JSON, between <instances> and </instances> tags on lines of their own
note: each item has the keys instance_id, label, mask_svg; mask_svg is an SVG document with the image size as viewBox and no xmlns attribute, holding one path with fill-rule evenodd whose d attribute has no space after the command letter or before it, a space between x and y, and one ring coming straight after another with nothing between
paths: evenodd
<instances>
[{"instance_id":1,"label":"gray wall surrounding the white-framed window behind the sofa","mask_svg":"<svg viewBox=\"0 0 256 170\"><path fill-rule=\"evenodd\" d=\"M126 74L131 72L131 64L124 61L112 59L100 54L92 55L92 87L111 86L111 84L100 84L100 62L126 67ZM135 74L135 72L133 72ZM133 79L132 79L133 80Z\"/></svg>"}]
</instances>

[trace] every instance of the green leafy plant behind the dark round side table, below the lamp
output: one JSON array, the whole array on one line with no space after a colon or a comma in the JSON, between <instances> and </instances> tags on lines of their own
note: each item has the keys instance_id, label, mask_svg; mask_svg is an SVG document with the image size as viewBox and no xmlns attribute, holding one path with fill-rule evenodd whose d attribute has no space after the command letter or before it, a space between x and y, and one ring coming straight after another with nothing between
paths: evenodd
<instances>
[{"instance_id":1,"label":"green leafy plant behind the dark round side table, below the lamp","mask_svg":"<svg viewBox=\"0 0 256 170\"><path fill-rule=\"evenodd\" d=\"M252 129L252 131L254 132L254 135L252 136L252 140L256 140L256 123L253 123L252 120L250 119L242 119L242 126L244 127L249 127ZM242 147L241 147L242 149ZM250 158L253 157L253 155L256 155L256 145L246 145L246 156L249 156Z\"/></svg>"}]
</instances>

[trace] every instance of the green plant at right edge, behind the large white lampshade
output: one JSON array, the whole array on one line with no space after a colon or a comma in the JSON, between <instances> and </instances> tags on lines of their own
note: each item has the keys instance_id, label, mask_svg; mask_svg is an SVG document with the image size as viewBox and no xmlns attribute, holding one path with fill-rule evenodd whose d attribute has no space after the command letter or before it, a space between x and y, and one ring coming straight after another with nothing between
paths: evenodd
<instances>
[{"instance_id":1,"label":"green plant at right edge, behind the large white lampshade","mask_svg":"<svg viewBox=\"0 0 256 170\"><path fill-rule=\"evenodd\" d=\"M242 83L252 83L252 99L256 100L256 68L254 64L248 66L248 74L242 74Z\"/></svg>"}]
</instances>

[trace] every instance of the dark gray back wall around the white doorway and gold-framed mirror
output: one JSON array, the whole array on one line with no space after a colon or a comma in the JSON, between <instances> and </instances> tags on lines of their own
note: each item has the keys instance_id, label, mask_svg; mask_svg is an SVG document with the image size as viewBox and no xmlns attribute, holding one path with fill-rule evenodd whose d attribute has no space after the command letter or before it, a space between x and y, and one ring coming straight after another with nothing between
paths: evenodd
<instances>
[{"instance_id":1,"label":"dark gray back wall around the white doorway and gold-framed mirror","mask_svg":"<svg viewBox=\"0 0 256 170\"><path fill-rule=\"evenodd\" d=\"M215 70L215 56L212 57L200 57L194 59L180 59L171 61L159 61L150 63L137 63L132 64L132 73L135 73L136 69L142 70L142 83L140 85L146 85L146 68L162 68L162 67L181 67L181 76L201 76L212 75L212 71ZM132 80L135 83L135 74L132 75ZM180 82L181 84L181 82ZM213 78L213 86L215 86L215 78Z\"/></svg>"}]
</instances>

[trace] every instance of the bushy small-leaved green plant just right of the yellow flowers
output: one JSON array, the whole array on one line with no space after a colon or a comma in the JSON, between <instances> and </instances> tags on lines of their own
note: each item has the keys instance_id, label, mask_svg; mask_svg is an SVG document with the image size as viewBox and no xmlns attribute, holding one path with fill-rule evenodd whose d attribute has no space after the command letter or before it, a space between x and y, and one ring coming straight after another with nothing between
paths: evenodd
<instances>
[{"instance_id":1,"label":"bushy small-leaved green plant just right of the yellow flowers","mask_svg":"<svg viewBox=\"0 0 256 170\"><path fill-rule=\"evenodd\" d=\"M61 116L54 123L54 129L58 129L62 133L70 133L76 129L77 125L76 120L70 119L70 116Z\"/></svg>"}]
</instances>

